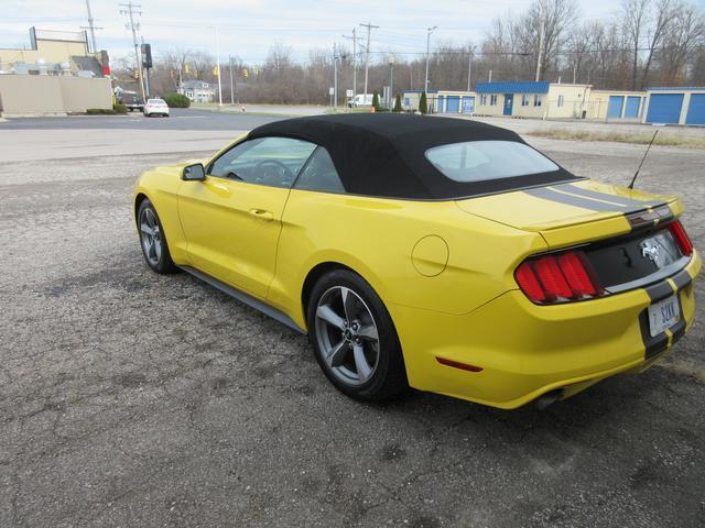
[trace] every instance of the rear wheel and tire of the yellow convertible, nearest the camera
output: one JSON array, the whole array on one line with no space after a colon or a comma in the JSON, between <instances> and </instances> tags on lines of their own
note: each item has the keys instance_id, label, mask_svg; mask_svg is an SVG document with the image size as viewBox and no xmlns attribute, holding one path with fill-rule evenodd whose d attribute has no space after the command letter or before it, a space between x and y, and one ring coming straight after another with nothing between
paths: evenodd
<instances>
[{"instance_id":1,"label":"rear wheel and tire of the yellow convertible, nearest the camera","mask_svg":"<svg viewBox=\"0 0 705 528\"><path fill-rule=\"evenodd\" d=\"M392 319L362 277L347 270L324 275L311 293L306 319L316 361L338 391L381 402L409 387Z\"/></svg>"}]
</instances>

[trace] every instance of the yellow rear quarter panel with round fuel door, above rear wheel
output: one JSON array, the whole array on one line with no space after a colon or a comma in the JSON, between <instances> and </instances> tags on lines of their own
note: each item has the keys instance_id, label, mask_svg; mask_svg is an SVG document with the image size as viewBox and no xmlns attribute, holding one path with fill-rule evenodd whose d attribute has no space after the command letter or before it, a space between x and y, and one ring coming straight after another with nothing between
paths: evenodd
<instances>
[{"instance_id":1,"label":"yellow rear quarter panel with round fuel door, above rear wheel","mask_svg":"<svg viewBox=\"0 0 705 528\"><path fill-rule=\"evenodd\" d=\"M516 287L518 263L546 248L536 233L467 215L452 201L293 189L282 224L268 300L302 328L302 287L319 263L351 267L386 304L462 315Z\"/></svg>"}]
</instances>

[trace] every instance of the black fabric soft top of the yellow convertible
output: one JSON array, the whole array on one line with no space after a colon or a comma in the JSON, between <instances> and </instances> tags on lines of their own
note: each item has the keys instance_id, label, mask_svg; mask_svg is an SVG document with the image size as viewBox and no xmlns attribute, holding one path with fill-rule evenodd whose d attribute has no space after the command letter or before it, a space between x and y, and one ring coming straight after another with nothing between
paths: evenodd
<instances>
[{"instance_id":1,"label":"black fabric soft top of the yellow convertible","mask_svg":"<svg viewBox=\"0 0 705 528\"><path fill-rule=\"evenodd\" d=\"M481 182L455 182L424 155L467 141L524 141L499 127L467 119L398 113L348 113L263 124L248 138L283 136L325 147L347 193L384 198L448 200L578 179L564 168Z\"/></svg>"}]
</instances>

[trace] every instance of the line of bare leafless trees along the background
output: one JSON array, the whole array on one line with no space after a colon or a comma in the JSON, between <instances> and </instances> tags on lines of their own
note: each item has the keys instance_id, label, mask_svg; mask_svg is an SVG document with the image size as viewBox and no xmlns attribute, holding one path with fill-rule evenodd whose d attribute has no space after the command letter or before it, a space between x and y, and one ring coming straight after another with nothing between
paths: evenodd
<instances>
[{"instance_id":1,"label":"line of bare leafless trees along the background","mask_svg":"<svg viewBox=\"0 0 705 528\"><path fill-rule=\"evenodd\" d=\"M607 14L607 13L606 13ZM582 20L575 0L534 0L521 13L494 20L481 42L441 42L429 56L429 89L465 90L487 80L540 80L590 84L599 89L643 90L651 86L705 85L705 13L687 0L622 0L604 20ZM392 81L393 91L422 90L425 53L392 53L383 43L372 47L368 94ZM390 64L393 57L393 66ZM362 94L364 53L357 61L348 46L314 48L307 61L274 43L263 64L237 57L220 64L223 100L265 103L329 103L334 65L338 69L338 102L352 88ZM126 79L130 57L115 68ZM230 85L232 69L232 88ZM178 82L217 82L213 54L173 48L156 54L151 70L152 94L175 91ZM216 96L217 97L217 96Z\"/></svg>"}]
</instances>

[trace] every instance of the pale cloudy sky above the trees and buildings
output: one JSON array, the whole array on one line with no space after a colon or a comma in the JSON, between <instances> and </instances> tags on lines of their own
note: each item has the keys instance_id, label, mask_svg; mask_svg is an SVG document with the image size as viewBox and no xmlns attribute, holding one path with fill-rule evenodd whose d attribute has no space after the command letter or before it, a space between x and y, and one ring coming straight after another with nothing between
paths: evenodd
<instances>
[{"instance_id":1,"label":"pale cloudy sky above the trees and buildings","mask_svg":"<svg viewBox=\"0 0 705 528\"><path fill-rule=\"evenodd\" d=\"M119 3L129 0L89 0L98 47L112 58L132 51L132 35ZM437 25L435 44L478 43L491 21L508 12L520 13L530 0L132 0L141 4L140 34L153 54L174 48L205 50L216 55L216 30L221 59L238 56L248 64L264 62L274 43L289 46L305 62L311 48L333 48L347 43L343 34L367 37L360 23L372 23L370 48L379 58L389 52L422 55L426 29ZM705 0L695 0L705 7ZM88 25L86 0L2 0L0 47L29 47L29 29L79 31ZM608 19L618 0L577 0L583 20Z\"/></svg>"}]
</instances>

